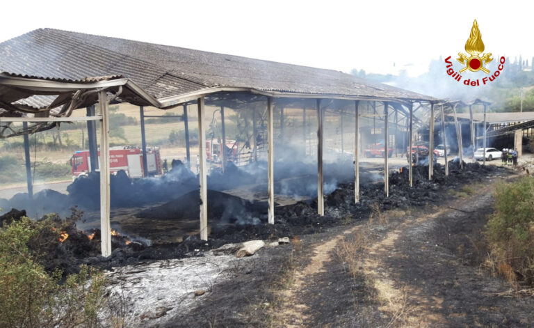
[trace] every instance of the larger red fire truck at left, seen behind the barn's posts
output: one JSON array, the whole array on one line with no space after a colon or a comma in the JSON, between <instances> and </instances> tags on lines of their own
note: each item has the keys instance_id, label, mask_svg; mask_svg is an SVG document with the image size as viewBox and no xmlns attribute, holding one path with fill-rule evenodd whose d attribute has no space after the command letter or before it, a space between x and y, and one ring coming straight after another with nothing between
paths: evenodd
<instances>
[{"instance_id":1,"label":"larger red fire truck at left, seen behind the barn's posts","mask_svg":"<svg viewBox=\"0 0 534 328\"><path fill-rule=\"evenodd\" d=\"M98 152L100 157L100 151ZM90 164L89 150L80 150L70 159L72 180L93 171ZM147 166L149 175L161 174L161 157L159 148L147 148ZM109 149L109 168L112 174L124 170L130 178L143 178L143 150L131 146L118 146Z\"/></svg>"}]
</instances>

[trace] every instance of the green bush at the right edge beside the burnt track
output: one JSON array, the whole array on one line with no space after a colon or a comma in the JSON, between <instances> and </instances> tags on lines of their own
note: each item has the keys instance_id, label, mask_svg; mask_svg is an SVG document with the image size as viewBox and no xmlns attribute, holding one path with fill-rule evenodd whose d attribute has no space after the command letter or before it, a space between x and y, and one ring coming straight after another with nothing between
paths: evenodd
<instances>
[{"instance_id":1,"label":"green bush at the right edge beside the burnt track","mask_svg":"<svg viewBox=\"0 0 534 328\"><path fill-rule=\"evenodd\" d=\"M533 200L534 177L497 186L495 212L485 232L496 265L510 265L527 283L534 282Z\"/></svg>"}]
</instances>

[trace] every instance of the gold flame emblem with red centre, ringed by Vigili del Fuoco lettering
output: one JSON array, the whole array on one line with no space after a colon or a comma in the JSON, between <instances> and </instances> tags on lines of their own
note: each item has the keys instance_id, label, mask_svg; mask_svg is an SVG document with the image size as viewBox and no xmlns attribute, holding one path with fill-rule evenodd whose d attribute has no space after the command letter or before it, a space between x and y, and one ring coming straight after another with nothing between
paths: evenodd
<instances>
[{"instance_id":1,"label":"gold flame emblem with red centre, ringed by Vigili del Fuoco lettering","mask_svg":"<svg viewBox=\"0 0 534 328\"><path fill-rule=\"evenodd\" d=\"M493 60L492 54L490 52L483 54L484 52L484 42L482 42L482 35L478 29L478 23L473 22L473 27L471 28L471 35L469 39L465 42L465 51L471 55L458 53L459 58L456 58L457 61L464 64L465 67L460 69L460 73L470 70L471 72L478 72L479 70L489 74L489 70L484 67L485 64Z\"/></svg>"}]
</instances>

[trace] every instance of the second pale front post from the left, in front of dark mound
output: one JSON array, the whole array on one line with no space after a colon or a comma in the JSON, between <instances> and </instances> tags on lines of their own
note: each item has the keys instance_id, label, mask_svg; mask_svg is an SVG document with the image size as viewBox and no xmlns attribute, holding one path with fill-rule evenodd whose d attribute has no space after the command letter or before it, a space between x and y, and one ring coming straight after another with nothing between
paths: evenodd
<instances>
[{"instance_id":1,"label":"second pale front post from the left, in front of dark mound","mask_svg":"<svg viewBox=\"0 0 534 328\"><path fill-rule=\"evenodd\" d=\"M208 178L206 164L206 125L204 124L204 97L197 99L198 111L198 181L200 182L200 239L208 240Z\"/></svg>"}]
</instances>

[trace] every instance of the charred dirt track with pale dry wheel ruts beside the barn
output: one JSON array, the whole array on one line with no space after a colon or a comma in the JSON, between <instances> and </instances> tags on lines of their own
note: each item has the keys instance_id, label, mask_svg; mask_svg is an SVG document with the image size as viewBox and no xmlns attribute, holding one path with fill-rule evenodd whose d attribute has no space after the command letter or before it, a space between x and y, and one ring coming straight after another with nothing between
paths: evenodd
<instances>
[{"instance_id":1,"label":"charred dirt track with pale dry wheel ruts beside the barn","mask_svg":"<svg viewBox=\"0 0 534 328\"><path fill-rule=\"evenodd\" d=\"M283 327L532 327L534 299L480 267L492 187L440 208L376 214L314 244ZM352 258L352 259L351 259Z\"/></svg>"}]
</instances>

